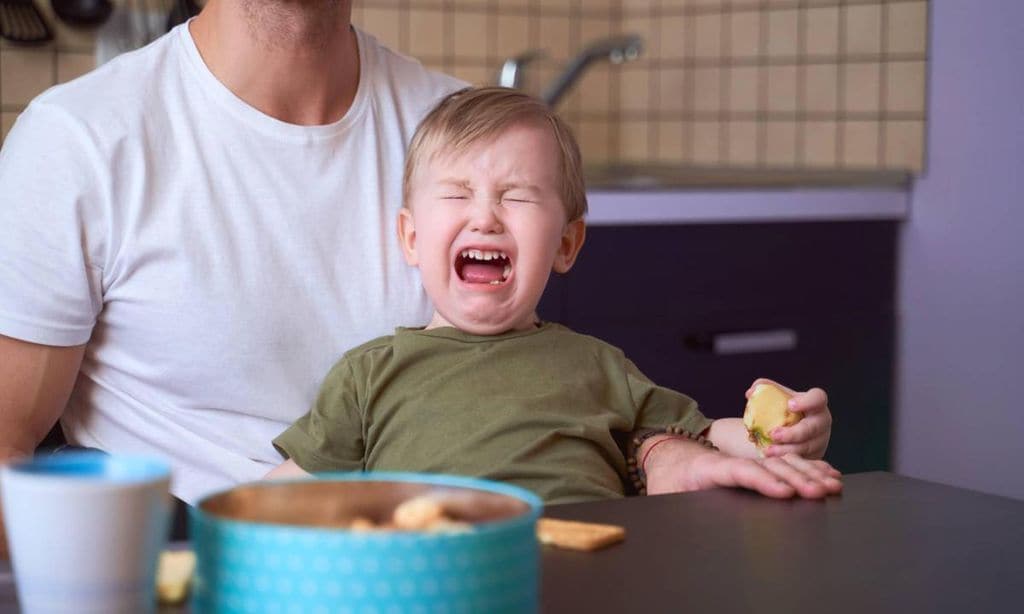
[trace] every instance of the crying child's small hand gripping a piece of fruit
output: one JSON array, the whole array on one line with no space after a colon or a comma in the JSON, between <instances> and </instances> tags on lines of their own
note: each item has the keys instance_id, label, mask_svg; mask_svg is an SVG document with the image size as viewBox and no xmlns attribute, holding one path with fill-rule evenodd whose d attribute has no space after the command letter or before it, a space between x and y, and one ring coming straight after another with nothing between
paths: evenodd
<instances>
[{"instance_id":1,"label":"crying child's small hand gripping a piece of fruit","mask_svg":"<svg viewBox=\"0 0 1024 614\"><path fill-rule=\"evenodd\" d=\"M803 420L792 427L778 427L768 435L774 442L764 450L767 457L798 454L804 458L823 458L831 435L831 411L828 410L828 395L820 388L807 392L796 392L771 380L758 379L746 391L751 397L758 384L774 384L793 395L790 411L804 414Z\"/></svg>"}]
</instances>

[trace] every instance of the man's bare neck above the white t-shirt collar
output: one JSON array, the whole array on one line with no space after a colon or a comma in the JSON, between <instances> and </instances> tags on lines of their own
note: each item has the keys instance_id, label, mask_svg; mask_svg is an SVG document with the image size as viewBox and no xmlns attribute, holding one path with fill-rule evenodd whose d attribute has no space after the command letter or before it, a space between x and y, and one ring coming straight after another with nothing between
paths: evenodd
<instances>
[{"instance_id":1,"label":"man's bare neck above the white t-shirt collar","mask_svg":"<svg viewBox=\"0 0 1024 614\"><path fill-rule=\"evenodd\" d=\"M210 0L189 32L210 71L266 115L341 119L359 84L350 0Z\"/></svg>"}]
</instances>

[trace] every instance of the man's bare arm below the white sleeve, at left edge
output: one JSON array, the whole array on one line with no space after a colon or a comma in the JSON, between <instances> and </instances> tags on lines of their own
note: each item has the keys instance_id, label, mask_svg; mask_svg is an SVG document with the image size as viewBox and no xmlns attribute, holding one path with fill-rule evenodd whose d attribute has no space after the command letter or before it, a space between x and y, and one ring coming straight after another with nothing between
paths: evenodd
<instances>
[{"instance_id":1,"label":"man's bare arm below the white sleeve, at left edge","mask_svg":"<svg viewBox=\"0 0 1024 614\"><path fill-rule=\"evenodd\" d=\"M0 463L33 453L68 403L85 346L0 335Z\"/></svg>"}]
</instances>

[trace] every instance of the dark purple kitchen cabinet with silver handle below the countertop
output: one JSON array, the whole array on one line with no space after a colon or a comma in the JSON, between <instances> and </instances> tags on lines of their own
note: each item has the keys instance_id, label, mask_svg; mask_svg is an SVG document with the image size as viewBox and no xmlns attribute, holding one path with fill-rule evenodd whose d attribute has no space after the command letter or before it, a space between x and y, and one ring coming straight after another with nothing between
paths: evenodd
<instances>
[{"instance_id":1,"label":"dark purple kitchen cabinet with silver handle below the countertop","mask_svg":"<svg viewBox=\"0 0 1024 614\"><path fill-rule=\"evenodd\" d=\"M758 377L819 386L826 458L890 467L895 222L594 226L542 317L626 352L713 418Z\"/></svg>"}]
</instances>

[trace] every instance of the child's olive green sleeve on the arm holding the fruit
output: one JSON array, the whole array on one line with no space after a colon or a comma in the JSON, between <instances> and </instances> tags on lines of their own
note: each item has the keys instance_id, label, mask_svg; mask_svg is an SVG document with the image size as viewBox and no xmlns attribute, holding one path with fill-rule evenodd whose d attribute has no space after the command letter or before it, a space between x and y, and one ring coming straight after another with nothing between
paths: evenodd
<instances>
[{"instance_id":1,"label":"child's olive green sleeve on the arm holding the fruit","mask_svg":"<svg viewBox=\"0 0 1024 614\"><path fill-rule=\"evenodd\" d=\"M698 435L711 426L712 421L700 413L696 401L681 392L654 384L628 359L626 381L637 408L635 430L679 427Z\"/></svg>"}]
</instances>

